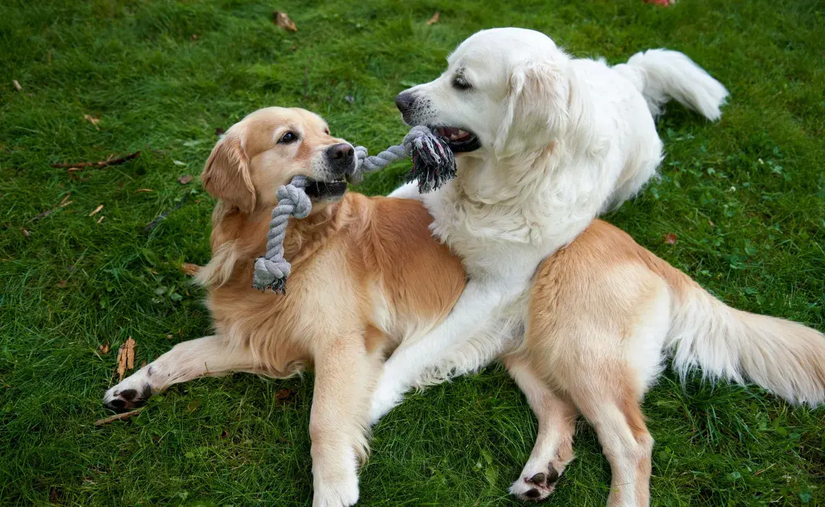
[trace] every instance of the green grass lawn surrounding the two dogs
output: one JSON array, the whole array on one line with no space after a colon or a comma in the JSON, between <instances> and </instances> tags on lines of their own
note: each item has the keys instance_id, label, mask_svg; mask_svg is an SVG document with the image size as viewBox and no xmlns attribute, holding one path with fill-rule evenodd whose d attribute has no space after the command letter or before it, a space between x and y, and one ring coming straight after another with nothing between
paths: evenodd
<instances>
[{"instance_id":1,"label":"green grass lawn surrounding the two dogs","mask_svg":"<svg viewBox=\"0 0 825 507\"><path fill-rule=\"evenodd\" d=\"M298 33L271 23L275 8ZM436 10L441 21L426 26ZM209 259L214 203L177 178L200 172L216 128L262 106L318 111L370 150L396 143L407 128L394 95L436 77L450 49L490 26L535 28L616 63L679 49L724 82L719 124L669 107L661 181L609 219L727 303L825 329L821 2L5 0L0 505L309 505L311 375L198 380L136 419L92 424L107 415L101 397L127 336L139 363L210 330L204 294L179 266ZM79 179L50 167L136 150ZM406 169L361 190L385 193ZM825 505L825 411L757 387L683 389L672 373L644 411L657 441L653 505ZM499 367L433 387L375 429L361 505L520 505L506 488L534 436ZM576 451L549 501L603 505L609 468L583 423Z\"/></svg>"}]
</instances>

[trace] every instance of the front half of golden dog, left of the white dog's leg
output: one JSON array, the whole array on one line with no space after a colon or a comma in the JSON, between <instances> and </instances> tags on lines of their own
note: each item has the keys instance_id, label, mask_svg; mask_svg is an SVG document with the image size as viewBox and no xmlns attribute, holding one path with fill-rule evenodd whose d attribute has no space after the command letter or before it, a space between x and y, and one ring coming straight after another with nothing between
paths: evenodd
<instances>
[{"instance_id":1,"label":"front half of golden dog, left of the white dog's leg","mask_svg":"<svg viewBox=\"0 0 825 507\"><path fill-rule=\"evenodd\" d=\"M353 153L306 110L270 107L234 124L201 176L219 199L212 259L197 275L208 289L215 335L176 345L104 398L124 410L193 378L234 371L286 377L313 365L315 507L356 503L370 394L384 355L441 322L465 284L459 259L431 237L420 202L346 193ZM308 177L313 209L287 228L288 292L259 292L252 264L266 250L276 190L296 175Z\"/></svg>"}]
</instances>

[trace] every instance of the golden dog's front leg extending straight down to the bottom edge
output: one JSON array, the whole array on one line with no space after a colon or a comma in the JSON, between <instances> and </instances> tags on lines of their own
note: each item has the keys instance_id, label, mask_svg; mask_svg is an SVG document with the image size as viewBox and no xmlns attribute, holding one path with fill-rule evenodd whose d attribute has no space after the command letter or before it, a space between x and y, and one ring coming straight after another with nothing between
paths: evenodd
<instances>
[{"instance_id":1,"label":"golden dog's front leg extending straight down to the bottom edge","mask_svg":"<svg viewBox=\"0 0 825 507\"><path fill-rule=\"evenodd\" d=\"M362 333L319 347L309 417L314 507L358 501L358 466L366 457L370 395L380 363L367 354Z\"/></svg>"}]
</instances>

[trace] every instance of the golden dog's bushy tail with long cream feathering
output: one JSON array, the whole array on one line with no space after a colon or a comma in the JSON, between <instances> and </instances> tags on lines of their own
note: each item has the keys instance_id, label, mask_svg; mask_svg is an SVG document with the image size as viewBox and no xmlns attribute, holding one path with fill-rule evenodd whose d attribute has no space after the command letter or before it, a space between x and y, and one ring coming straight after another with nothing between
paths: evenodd
<instances>
[{"instance_id":1,"label":"golden dog's bushy tail with long cream feathering","mask_svg":"<svg viewBox=\"0 0 825 507\"><path fill-rule=\"evenodd\" d=\"M699 368L705 378L750 380L792 403L825 401L822 333L728 307L681 271L667 268L674 298L665 348L682 378Z\"/></svg>"}]
</instances>

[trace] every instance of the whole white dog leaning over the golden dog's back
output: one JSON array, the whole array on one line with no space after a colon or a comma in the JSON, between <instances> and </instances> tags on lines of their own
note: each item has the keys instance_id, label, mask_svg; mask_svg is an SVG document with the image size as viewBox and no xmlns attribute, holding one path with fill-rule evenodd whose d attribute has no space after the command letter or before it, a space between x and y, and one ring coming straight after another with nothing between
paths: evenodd
<instances>
[{"instance_id":1,"label":"whole white dog leaning over the golden dog's back","mask_svg":"<svg viewBox=\"0 0 825 507\"><path fill-rule=\"evenodd\" d=\"M667 96L709 119L727 96L674 51L648 51L610 68L516 28L480 31L448 62L441 77L407 91L416 102L404 119L466 129L482 144L456 157L455 180L421 197L433 234L462 257L469 283L440 326L389 358L373 397L374 422L409 388L479 369L512 349L540 261L654 175L662 142L652 112ZM457 74L469 90L453 86ZM392 195L413 197L413 185Z\"/></svg>"}]
</instances>

